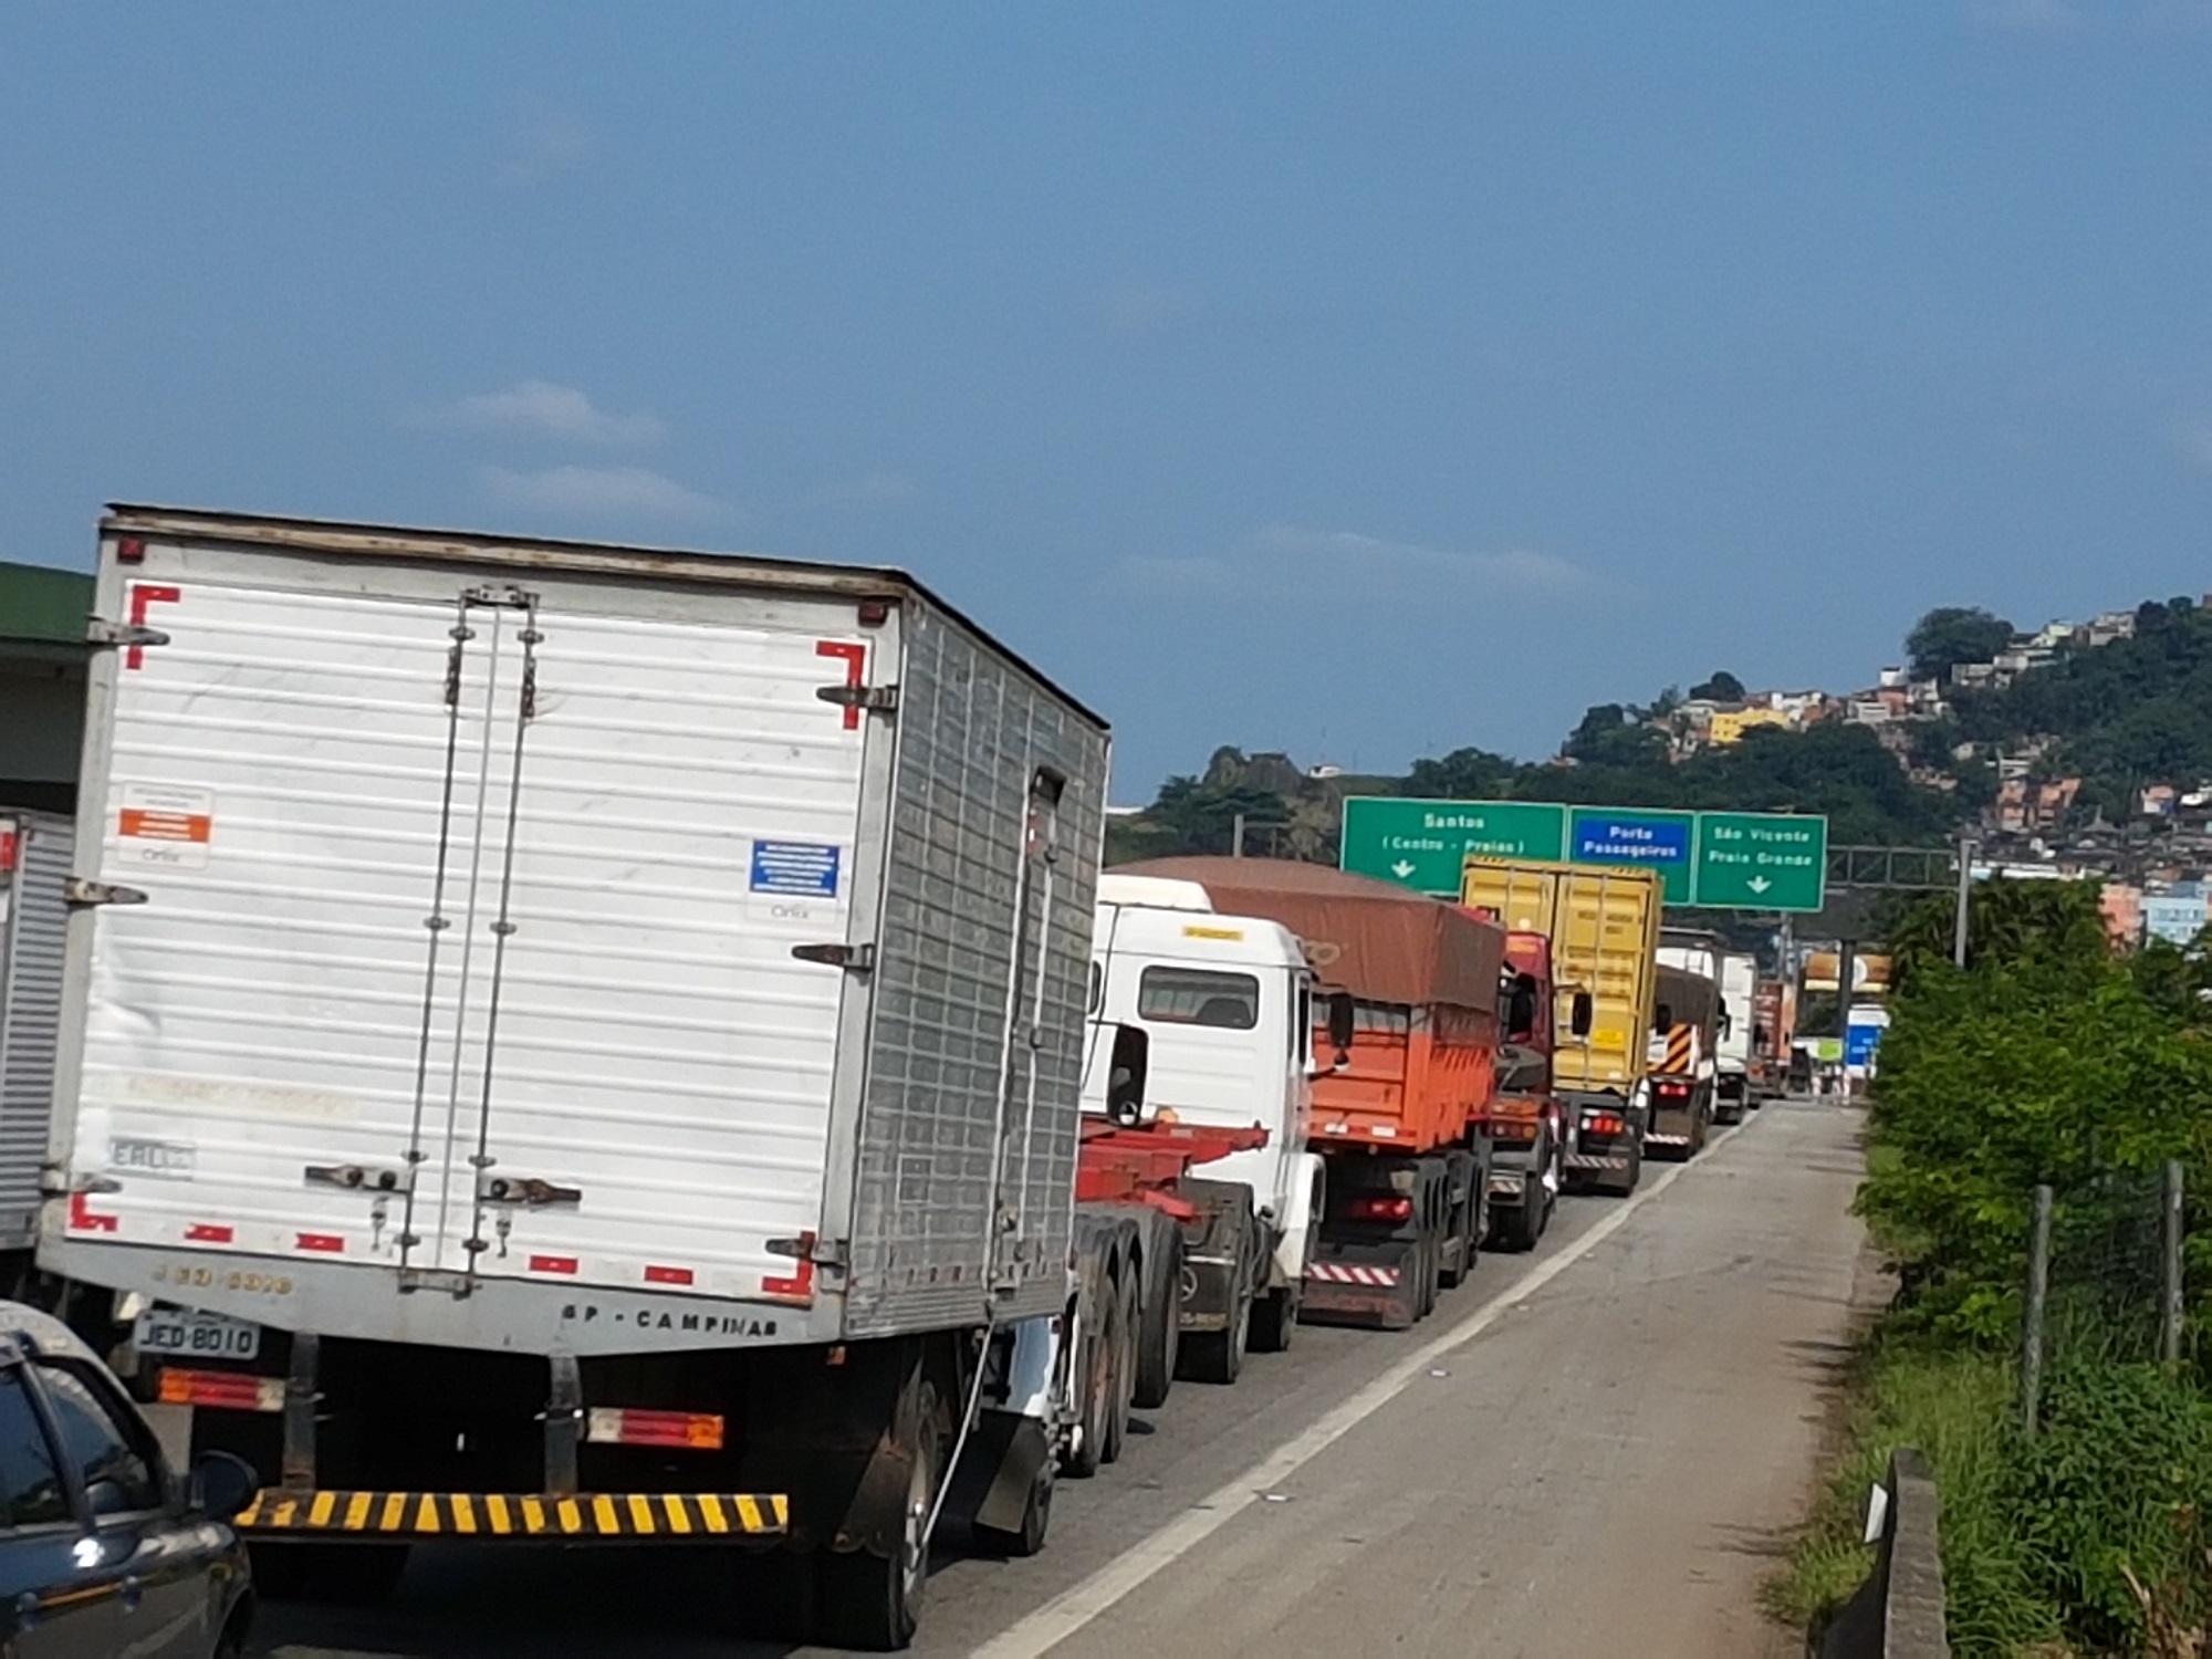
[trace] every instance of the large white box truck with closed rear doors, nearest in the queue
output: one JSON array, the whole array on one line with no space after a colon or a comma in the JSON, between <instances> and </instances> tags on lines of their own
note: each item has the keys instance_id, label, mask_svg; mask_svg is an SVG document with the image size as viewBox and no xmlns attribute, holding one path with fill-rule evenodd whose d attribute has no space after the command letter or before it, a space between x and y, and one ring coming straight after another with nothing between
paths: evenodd
<instances>
[{"instance_id":1,"label":"large white box truck with closed rear doors, nearest in the queue","mask_svg":"<svg viewBox=\"0 0 2212 1659\"><path fill-rule=\"evenodd\" d=\"M40 1261L265 1593L761 1537L900 1646L947 1491L1035 1548L1097 717L741 555L115 507L93 626Z\"/></svg>"}]
</instances>

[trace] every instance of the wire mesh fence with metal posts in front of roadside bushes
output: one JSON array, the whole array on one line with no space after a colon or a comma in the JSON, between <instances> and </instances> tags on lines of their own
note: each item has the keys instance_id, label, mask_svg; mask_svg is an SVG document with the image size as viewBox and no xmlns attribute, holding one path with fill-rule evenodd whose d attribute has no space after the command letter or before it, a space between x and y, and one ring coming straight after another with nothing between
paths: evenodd
<instances>
[{"instance_id":1,"label":"wire mesh fence with metal posts in front of roadside bushes","mask_svg":"<svg viewBox=\"0 0 2212 1659\"><path fill-rule=\"evenodd\" d=\"M2020 1356L2028 1433L2057 1367L2163 1363L2205 1376L2188 1199L2179 1161L2035 1188Z\"/></svg>"}]
</instances>

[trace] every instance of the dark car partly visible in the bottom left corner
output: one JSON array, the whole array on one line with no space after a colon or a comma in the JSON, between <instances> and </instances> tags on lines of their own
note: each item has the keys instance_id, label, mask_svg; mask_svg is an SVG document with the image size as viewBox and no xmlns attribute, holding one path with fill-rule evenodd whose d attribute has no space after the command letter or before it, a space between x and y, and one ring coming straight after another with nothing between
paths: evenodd
<instances>
[{"instance_id":1,"label":"dark car partly visible in the bottom left corner","mask_svg":"<svg viewBox=\"0 0 2212 1659\"><path fill-rule=\"evenodd\" d=\"M252 1617L228 1526L254 1471L170 1473L113 1371L62 1321L0 1303L0 1655L239 1655Z\"/></svg>"}]
</instances>

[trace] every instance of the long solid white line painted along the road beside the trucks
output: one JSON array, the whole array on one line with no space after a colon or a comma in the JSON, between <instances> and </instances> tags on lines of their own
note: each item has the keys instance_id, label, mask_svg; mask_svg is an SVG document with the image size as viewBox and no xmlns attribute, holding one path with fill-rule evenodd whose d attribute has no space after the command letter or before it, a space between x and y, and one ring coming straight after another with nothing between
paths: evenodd
<instances>
[{"instance_id":1,"label":"long solid white line painted along the road beside the trucks","mask_svg":"<svg viewBox=\"0 0 2212 1659\"><path fill-rule=\"evenodd\" d=\"M1425 1376L1440 1358L1478 1338L1495 1325L1502 1314L1520 1307L1553 1279L1597 1250L1597 1245L1628 1225L1628 1217L1674 1186L1674 1181L1683 1175L1701 1168L1705 1159L1710 1159L1739 1133L1741 1126L1721 1130L1708 1141L1701 1159L1694 1164L1677 1164L1670 1170L1663 1170L1657 1179L1639 1186L1632 1197L1615 1206L1613 1214L1566 1245L1566 1250L1557 1256L1540 1261L1524 1276L1515 1279L1486 1303L1478 1305L1458 1325L1431 1336L1349 1400L1323 1411L1303 1433L1285 1440L1241 1475L1201 1498L1141 1544L1133 1544L1121 1551L1121 1555L1106 1562L1106 1566L1091 1577L1062 1590L1029 1617L1006 1626L991 1641L975 1648L973 1659L1035 1659L1035 1655L1046 1652L1073 1637L1086 1624L1113 1608L1115 1601L1126 1597L1161 1568L1172 1566L1177 1559L1194 1551L1248 1506L1256 1504L1265 1493L1281 1486L1283 1480L1294 1475L1376 1411L1396 1400L1413 1378Z\"/></svg>"}]
</instances>

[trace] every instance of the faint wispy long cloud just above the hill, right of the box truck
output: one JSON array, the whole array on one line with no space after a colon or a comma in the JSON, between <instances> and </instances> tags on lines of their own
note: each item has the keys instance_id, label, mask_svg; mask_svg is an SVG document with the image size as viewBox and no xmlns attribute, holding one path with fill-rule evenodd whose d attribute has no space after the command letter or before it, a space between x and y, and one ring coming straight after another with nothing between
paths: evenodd
<instances>
[{"instance_id":1,"label":"faint wispy long cloud just above the hill, right of the box truck","mask_svg":"<svg viewBox=\"0 0 2212 1659\"><path fill-rule=\"evenodd\" d=\"M1564 593L1590 582L1588 571L1557 553L1533 549L1460 553L1296 524L1272 524L1221 555L1130 557L1117 566L1117 577L1115 586L1161 599L1234 595L1281 597L1296 604L1329 593L1449 595L1460 591L1455 584Z\"/></svg>"}]
</instances>

